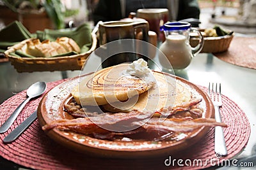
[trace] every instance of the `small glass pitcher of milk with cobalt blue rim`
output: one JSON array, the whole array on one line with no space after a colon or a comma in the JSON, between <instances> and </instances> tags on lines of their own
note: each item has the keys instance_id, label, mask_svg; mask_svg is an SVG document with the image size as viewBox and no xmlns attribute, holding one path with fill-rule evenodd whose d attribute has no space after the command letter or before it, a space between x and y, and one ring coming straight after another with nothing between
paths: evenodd
<instances>
[{"instance_id":1,"label":"small glass pitcher of milk with cobalt blue rim","mask_svg":"<svg viewBox=\"0 0 256 170\"><path fill-rule=\"evenodd\" d=\"M198 29L191 28L188 22L167 22L162 27L165 41L159 50L165 55L159 55L159 62L165 69L184 69L191 59L198 54L204 45L204 37ZM197 32L199 43L194 48L189 45L189 32ZM167 60L170 62L166 62ZM170 67L170 64L172 67Z\"/></svg>"}]
</instances>

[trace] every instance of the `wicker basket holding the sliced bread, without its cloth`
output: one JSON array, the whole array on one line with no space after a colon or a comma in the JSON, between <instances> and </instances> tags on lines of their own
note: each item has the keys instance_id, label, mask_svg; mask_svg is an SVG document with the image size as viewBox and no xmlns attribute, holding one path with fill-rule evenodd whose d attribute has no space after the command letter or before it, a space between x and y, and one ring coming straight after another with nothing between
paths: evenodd
<instances>
[{"instance_id":1,"label":"wicker basket holding the sliced bread, without its cloth","mask_svg":"<svg viewBox=\"0 0 256 170\"><path fill-rule=\"evenodd\" d=\"M84 62L86 62L88 56L95 50L97 46L97 36L92 35L92 46L90 50L85 53L79 53L77 55L70 55L64 57L38 57L38 58L29 58L29 57L16 57L12 55L13 52L19 50L26 44L30 39L26 39L17 45L11 46L8 50L4 52L6 57L8 57L11 64L15 69L21 72L33 72L33 71L66 71L66 70L80 70Z\"/></svg>"}]
</instances>

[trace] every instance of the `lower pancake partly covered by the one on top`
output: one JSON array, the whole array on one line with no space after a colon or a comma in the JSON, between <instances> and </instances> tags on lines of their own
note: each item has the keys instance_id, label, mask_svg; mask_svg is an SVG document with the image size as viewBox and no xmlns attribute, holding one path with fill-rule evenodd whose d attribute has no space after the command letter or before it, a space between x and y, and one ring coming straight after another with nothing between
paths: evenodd
<instances>
[{"instance_id":1,"label":"lower pancake partly covered by the one on top","mask_svg":"<svg viewBox=\"0 0 256 170\"><path fill-rule=\"evenodd\" d=\"M175 106L177 104L188 102L191 99L191 92L175 80L169 74L154 71L156 85L140 95L138 102L133 106L119 104L106 104L103 108L111 112L129 112L138 111L159 111L165 106Z\"/></svg>"}]
</instances>

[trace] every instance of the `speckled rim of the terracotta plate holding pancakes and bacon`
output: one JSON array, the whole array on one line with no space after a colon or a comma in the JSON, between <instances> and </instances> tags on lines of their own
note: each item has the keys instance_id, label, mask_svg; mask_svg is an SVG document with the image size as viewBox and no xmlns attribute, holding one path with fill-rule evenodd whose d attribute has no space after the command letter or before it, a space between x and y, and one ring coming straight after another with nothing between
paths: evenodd
<instances>
[{"instance_id":1,"label":"speckled rim of the terracotta plate holding pancakes and bacon","mask_svg":"<svg viewBox=\"0 0 256 170\"><path fill-rule=\"evenodd\" d=\"M45 94L38 107L38 120L41 126L51 122L52 120L68 118L67 113L63 111L63 104L66 103L70 98L70 91L73 89L73 87L75 87L80 79L84 78L85 76L86 75L65 81ZM209 97L193 83L179 77L173 77L176 78L176 80L184 83L184 85L191 90L193 95L203 99L203 101L200 103L200 107L204 108L203 117L212 117L214 113L214 106L212 105ZM50 138L54 139L54 141L60 143L60 145L66 146L72 150L76 150L77 152L88 153L90 155L96 155L99 157L134 158L134 155L136 155L136 158L140 158L170 155L170 153L184 150L185 148L188 148L189 146L198 142L208 130L208 127L196 129L195 131L189 133L189 136L186 138L182 138L175 142L108 141L91 138L89 136L84 136L73 132L59 131L56 128L46 133Z\"/></svg>"}]
</instances>

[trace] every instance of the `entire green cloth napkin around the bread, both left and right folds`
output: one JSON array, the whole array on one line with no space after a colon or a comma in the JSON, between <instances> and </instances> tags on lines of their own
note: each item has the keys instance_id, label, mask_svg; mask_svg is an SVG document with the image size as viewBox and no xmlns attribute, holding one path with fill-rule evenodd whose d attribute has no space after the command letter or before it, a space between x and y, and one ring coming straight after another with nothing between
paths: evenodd
<instances>
[{"instance_id":1,"label":"entire green cloth napkin around the bread, both left and right folds","mask_svg":"<svg viewBox=\"0 0 256 170\"><path fill-rule=\"evenodd\" d=\"M16 43L19 43L20 41L28 38L38 38L40 41L44 41L45 39L55 41L58 37L66 36L68 38L74 39L77 45L79 45L81 48L81 53L84 53L90 50L90 47L92 46L91 32L92 30L90 24L85 22L79 27L72 29L45 29L44 31L36 31L35 34L31 34L28 29L24 27L24 25L22 25L19 21L15 21L0 31L0 52L4 52L7 50L8 46L15 45ZM26 53L22 53L21 55L20 52L15 52L15 54L16 57L31 57L27 56ZM74 52L69 52L67 55L74 55Z\"/></svg>"}]
</instances>

